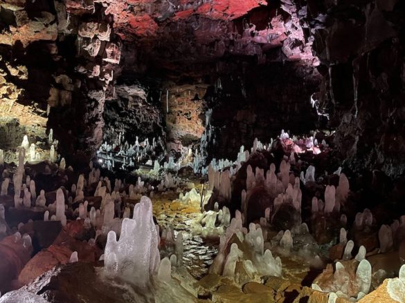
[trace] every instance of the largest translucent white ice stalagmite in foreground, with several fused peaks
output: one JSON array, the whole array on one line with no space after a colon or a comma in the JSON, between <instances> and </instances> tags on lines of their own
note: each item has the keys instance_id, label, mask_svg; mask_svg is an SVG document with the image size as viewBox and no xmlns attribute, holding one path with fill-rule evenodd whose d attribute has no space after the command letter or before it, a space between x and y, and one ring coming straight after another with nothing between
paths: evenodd
<instances>
[{"instance_id":1,"label":"largest translucent white ice stalagmite in foreground, with several fused peaks","mask_svg":"<svg viewBox=\"0 0 405 303\"><path fill-rule=\"evenodd\" d=\"M123 219L120 240L110 231L105 248L105 274L145 287L156 273L160 257L152 202L143 196L134 208L134 219Z\"/></svg>"}]
</instances>

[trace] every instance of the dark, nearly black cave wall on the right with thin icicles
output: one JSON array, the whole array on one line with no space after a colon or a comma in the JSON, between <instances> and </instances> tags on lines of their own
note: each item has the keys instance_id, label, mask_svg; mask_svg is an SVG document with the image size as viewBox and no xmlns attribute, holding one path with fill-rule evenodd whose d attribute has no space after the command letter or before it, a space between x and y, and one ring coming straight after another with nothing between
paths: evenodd
<instances>
[{"instance_id":1,"label":"dark, nearly black cave wall on the right with thin icicles","mask_svg":"<svg viewBox=\"0 0 405 303\"><path fill-rule=\"evenodd\" d=\"M287 2L287 1L286 1ZM405 3L295 1L314 37L323 84L318 110L352 170L405 170Z\"/></svg>"}]
</instances>

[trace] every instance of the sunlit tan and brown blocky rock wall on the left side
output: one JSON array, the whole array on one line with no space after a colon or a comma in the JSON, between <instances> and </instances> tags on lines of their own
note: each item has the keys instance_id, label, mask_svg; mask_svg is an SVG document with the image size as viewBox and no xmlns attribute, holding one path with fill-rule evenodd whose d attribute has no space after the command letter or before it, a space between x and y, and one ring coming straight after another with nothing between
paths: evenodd
<instances>
[{"instance_id":1,"label":"sunlit tan and brown blocky rock wall on the left side","mask_svg":"<svg viewBox=\"0 0 405 303\"><path fill-rule=\"evenodd\" d=\"M101 5L69 1L3 1L0 15L4 65L17 68L3 73L1 96L2 107L10 104L2 115L21 125L15 137L27 133L35 142L52 128L71 164L87 162L102 141L105 98L119 62L111 20Z\"/></svg>"}]
</instances>

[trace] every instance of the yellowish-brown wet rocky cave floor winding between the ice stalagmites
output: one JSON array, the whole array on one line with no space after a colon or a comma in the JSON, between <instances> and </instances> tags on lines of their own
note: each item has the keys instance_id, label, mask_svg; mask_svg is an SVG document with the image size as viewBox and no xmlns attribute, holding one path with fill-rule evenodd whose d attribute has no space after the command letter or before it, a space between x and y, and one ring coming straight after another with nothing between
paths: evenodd
<instances>
[{"instance_id":1,"label":"yellowish-brown wet rocky cave floor winding between the ice stalagmites","mask_svg":"<svg viewBox=\"0 0 405 303\"><path fill-rule=\"evenodd\" d=\"M190 180L189 180L190 181ZM195 185L201 193L201 184L198 178L188 182ZM320 273L310 268L309 264L295 257L283 257L282 277L262 277L261 280L252 279L246 282L246 277L234 282L229 279L208 273L210 265L217 255L219 239L206 239L195 235L192 231L193 224L201 217L198 207L181 204L176 201L179 193L168 191L158 193L152 198L153 213L160 228L173 228L174 234L183 233L183 265L188 273L196 280L199 280L196 287L199 287L201 302L207 296L217 302L294 302L297 298L305 297L311 293L308 288L312 281ZM161 257L168 255L164 249L161 250ZM249 280L249 279L248 279ZM269 295L271 293L271 295ZM202 295L201 295L202 294ZM319 297L323 300L323 297ZM209 302L211 302L209 300ZM321 301L319 301L321 302Z\"/></svg>"}]
</instances>

